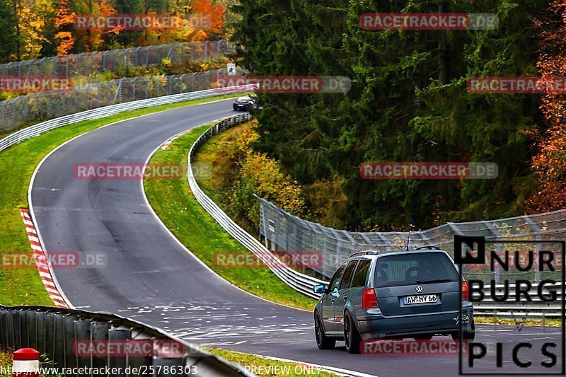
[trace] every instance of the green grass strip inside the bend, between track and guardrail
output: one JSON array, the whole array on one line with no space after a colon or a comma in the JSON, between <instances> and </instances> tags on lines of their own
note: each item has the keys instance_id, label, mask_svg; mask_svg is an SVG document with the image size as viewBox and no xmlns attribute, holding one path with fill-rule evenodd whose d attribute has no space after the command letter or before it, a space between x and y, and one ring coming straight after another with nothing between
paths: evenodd
<instances>
[{"instance_id":1,"label":"green grass strip inside the bend, between track and guardrail","mask_svg":"<svg viewBox=\"0 0 566 377\"><path fill-rule=\"evenodd\" d=\"M175 139L166 150L158 150L151 163L187 165L188 152L197 137L212 124ZM229 282L267 300L312 310L316 300L299 294L265 267L233 268L214 264L214 255L238 252L251 255L204 211L187 180L146 180L146 195L163 223L183 245Z\"/></svg>"}]
</instances>

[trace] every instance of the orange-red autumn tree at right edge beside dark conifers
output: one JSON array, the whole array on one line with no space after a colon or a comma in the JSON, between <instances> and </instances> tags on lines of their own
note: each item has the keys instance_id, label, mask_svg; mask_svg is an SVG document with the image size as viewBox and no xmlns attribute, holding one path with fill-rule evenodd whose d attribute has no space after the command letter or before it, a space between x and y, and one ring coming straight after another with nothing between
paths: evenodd
<instances>
[{"instance_id":1,"label":"orange-red autumn tree at right edge beside dark conifers","mask_svg":"<svg viewBox=\"0 0 566 377\"><path fill-rule=\"evenodd\" d=\"M538 69L543 80L564 77L566 72L566 0L554 0L549 16L536 21L541 32ZM546 93L541 110L546 123L538 129L532 168L538 190L527 199L529 211L566 208L566 95Z\"/></svg>"}]
</instances>

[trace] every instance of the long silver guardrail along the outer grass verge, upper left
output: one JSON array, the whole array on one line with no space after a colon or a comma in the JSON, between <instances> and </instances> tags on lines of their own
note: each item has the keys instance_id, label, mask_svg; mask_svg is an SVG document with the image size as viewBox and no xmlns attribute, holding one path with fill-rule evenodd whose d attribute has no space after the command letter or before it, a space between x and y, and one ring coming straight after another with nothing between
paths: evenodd
<instances>
[{"instance_id":1,"label":"long silver guardrail along the outer grass verge, upper left","mask_svg":"<svg viewBox=\"0 0 566 377\"><path fill-rule=\"evenodd\" d=\"M246 88L234 88L230 93L238 93L238 90L246 91ZM0 151L20 143L23 140L36 137L43 132L49 131L50 129L56 129L59 127L64 127L69 124L76 122L82 122L84 120L93 120L101 117L108 117L110 115L116 115L120 112L137 110L141 108L151 108L158 105L166 105L168 103L183 102L185 100L195 100L199 98L209 98L215 95L222 95L225 93L219 93L215 89L207 89L204 91L196 91L192 93L180 93L174 95L164 95L157 98L149 98L146 100L137 100L127 103L118 103L117 105L105 106L103 108L97 108L93 110L86 110L83 112L77 112L76 114L65 115L64 117L58 117L52 120L47 120L47 122L41 122L30 127L21 129L18 132L4 137L0 140Z\"/></svg>"}]
</instances>

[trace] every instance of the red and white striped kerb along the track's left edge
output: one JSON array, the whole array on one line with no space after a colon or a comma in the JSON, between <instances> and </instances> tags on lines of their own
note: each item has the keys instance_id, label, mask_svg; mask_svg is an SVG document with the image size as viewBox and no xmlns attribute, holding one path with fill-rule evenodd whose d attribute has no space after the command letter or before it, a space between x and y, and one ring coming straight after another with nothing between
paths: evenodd
<instances>
[{"instance_id":1,"label":"red and white striped kerb along the track's left edge","mask_svg":"<svg viewBox=\"0 0 566 377\"><path fill-rule=\"evenodd\" d=\"M23 219L23 224L25 225L25 231L28 233L28 239L30 240L33 256L35 258L35 265L37 265L37 270L40 272L41 281L47 290L47 294L49 294L55 306L59 308L69 308L67 302L65 302L63 296L59 293L57 285L54 283L49 268L49 259L41 247L40 239L37 237L37 231L35 231L35 225L33 224L28 209L21 208L20 214Z\"/></svg>"}]
</instances>

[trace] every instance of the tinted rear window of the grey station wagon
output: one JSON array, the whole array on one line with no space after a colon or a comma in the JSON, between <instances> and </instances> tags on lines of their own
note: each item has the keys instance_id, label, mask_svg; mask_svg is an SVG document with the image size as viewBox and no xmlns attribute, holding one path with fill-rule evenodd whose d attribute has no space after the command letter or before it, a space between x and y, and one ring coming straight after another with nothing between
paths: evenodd
<instances>
[{"instance_id":1,"label":"tinted rear window of the grey station wagon","mask_svg":"<svg viewBox=\"0 0 566 377\"><path fill-rule=\"evenodd\" d=\"M410 253L379 257L375 286L427 284L427 282L458 282L458 272L444 253Z\"/></svg>"}]
</instances>

